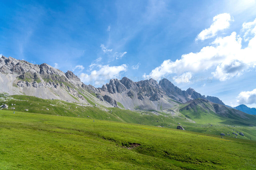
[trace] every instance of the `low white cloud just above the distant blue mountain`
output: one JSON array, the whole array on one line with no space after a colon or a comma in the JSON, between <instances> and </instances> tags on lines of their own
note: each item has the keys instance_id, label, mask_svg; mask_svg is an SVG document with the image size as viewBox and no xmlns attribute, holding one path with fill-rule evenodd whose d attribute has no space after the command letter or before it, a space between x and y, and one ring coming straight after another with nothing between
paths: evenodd
<instances>
[{"instance_id":1,"label":"low white cloud just above the distant blue mountain","mask_svg":"<svg viewBox=\"0 0 256 170\"><path fill-rule=\"evenodd\" d=\"M242 91L237 96L239 104L256 104L256 88L252 91Z\"/></svg>"}]
</instances>

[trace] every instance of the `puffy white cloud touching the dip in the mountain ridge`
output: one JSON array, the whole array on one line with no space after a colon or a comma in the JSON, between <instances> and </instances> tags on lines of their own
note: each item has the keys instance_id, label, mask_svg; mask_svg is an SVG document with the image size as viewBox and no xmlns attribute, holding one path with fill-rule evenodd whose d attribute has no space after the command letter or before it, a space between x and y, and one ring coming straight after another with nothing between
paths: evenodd
<instances>
[{"instance_id":1,"label":"puffy white cloud touching the dip in the mountain ridge","mask_svg":"<svg viewBox=\"0 0 256 170\"><path fill-rule=\"evenodd\" d=\"M81 73L79 78L82 82L90 82L94 85L102 85L106 83L106 80L119 78L122 72L127 71L127 65L122 64L120 66L109 66L109 65L96 65L98 70L92 70L90 75Z\"/></svg>"}]
</instances>

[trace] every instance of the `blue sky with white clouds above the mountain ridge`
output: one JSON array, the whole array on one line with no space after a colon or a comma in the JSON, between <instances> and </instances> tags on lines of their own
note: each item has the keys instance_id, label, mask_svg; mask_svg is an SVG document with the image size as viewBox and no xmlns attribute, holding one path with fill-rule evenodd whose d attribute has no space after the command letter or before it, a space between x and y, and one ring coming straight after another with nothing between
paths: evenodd
<instances>
[{"instance_id":1,"label":"blue sky with white clouds above the mountain ridge","mask_svg":"<svg viewBox=\"0 0 256 170\"><path fill-rule=\"evenodd\" d=\"M167 78L256 107L256 0L0 1L0 54L101 87Z\"/></svg>"}]
</instances>

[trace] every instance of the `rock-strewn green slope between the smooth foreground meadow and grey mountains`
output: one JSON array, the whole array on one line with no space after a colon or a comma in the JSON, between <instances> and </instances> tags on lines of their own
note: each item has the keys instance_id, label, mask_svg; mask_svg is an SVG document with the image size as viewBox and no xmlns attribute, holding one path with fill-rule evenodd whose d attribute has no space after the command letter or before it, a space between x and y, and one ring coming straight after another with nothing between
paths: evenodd
<instances>
[{"instance_id":1,"label":"rock-strewn green slope between the smooth foreground meadow and grey mountains","mask_svg":"<svg viewBox=\"0 0 256 170\"><path fill-rule=\"evenodd\" d=\"M237 120L235 119L220 117L216 113L206 113L203 112L204 110L200 112L200 109L197 109L196 112L195 110L186 113L181 111L181 113L179 113L178 115L172 115L169 112L160 112L154 110L130 111L120 108L104 108L84 104L81 105L79 103L73 102L70 103L62 100L45 100L33 96L24 95L2 95L2 99L0 98L0 102L1 104L6 103L9 106L8 109L3 110L13 111L11 107L15 107L15 111L21 112L72 116L86 119L110 120L151 126L162 126L164 128L172 129L176 129L178 123L180 123L180 125L182 125L185 130L188 131L213 135L225 133L226 138L237 137L241 139L256 140L256 126L236 124ZM12 106L12 103L15 105ZM184 104L180 106L184 106ZM25 109L28 109L28 111L25 111ZM196 117L197 114L201 116ZM188 116L189 118L186 116ZM232 134L232 132L242 132L244 136L236 136L235 134ZM230 134L230 136L228 136L227 134Z\"/></svg>"}]
</instances>

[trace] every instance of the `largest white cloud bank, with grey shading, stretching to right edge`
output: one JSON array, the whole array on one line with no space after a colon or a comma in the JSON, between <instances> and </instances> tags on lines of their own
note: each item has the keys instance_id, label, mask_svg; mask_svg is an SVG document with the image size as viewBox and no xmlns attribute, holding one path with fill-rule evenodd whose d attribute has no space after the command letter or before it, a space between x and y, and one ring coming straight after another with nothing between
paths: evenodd
<instances>
[{"instance_id":1,"label":"largest white cloud bank, with grey shading, stretching to right edge","mask_svg":"<svg viewBox=\"0 0 256 170\"><path fill-rule=\"evenodd\" d=\"M212 75L220 81L240 76L256 66L256 33L252 34L245 48L242 48L242 38L232 32L226 37L216 38L210 46L203 47L197 53L184 54L176 61L163 61L149 75L144 74L144 78L158 77L159 80L168 74L193 74L206 70L214 70Z\"/></svg>"}]
</instances>

